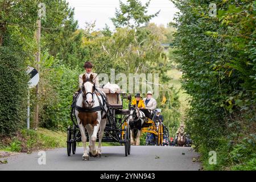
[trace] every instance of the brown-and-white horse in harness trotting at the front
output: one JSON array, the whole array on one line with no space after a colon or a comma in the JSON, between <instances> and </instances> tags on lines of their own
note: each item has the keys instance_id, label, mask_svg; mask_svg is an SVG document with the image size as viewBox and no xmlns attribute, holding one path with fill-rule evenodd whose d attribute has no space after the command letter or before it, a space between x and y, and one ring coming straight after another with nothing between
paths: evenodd
<instances>
[{"instance_id":1,"label":"brown-and-white horse in harness trotting at the front","mask_svg":"<svg viewBox=\"0 0 256 182\"><path fill-rule=\"evenodd\" d=\"M85 75L82 76L82 92L77 98L75 106L75 115L81 133L82 146L84 147L83 160L89 160L89 155L93 157L101 157L101 140L104 135L106 126L106 112L108 108L105 93L96 90L93 82L93 76L86 80ZM101 96L104 95L104 97ZM104 108L102 110L102 108ZM89 134L89 155L86 150L86 134ZM100 131L99 131L100 129ZM98 133L98 148L96 149L96 139Z\"/></svg>"}]
</instances>

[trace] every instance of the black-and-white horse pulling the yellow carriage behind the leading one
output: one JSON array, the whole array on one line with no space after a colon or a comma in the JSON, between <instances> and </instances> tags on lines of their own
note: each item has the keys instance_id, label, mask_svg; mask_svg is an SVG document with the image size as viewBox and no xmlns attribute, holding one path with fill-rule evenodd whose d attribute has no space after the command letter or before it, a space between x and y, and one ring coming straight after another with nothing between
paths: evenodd
<instances>
[{"instance_id":1,"label":"black-and-white horse pulling the yellow carriage behind the leading one","mask_svg":"<svg viewBox=\"0 0 256 182\"><path fill-rule=\"evenodd\" d=\"M142 125L145 121L146 117L145 114L139 110L138 107L134 107L130 111L130 116L129 116L129 125L131 128L131 144L139 146L139 138L141 137L141 129ZM136 140L135 140L136 139Z\"/></svg>"}]
</instances>

